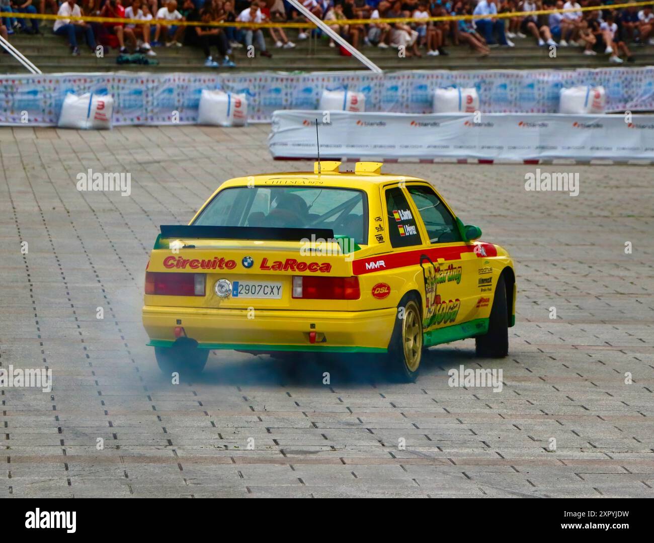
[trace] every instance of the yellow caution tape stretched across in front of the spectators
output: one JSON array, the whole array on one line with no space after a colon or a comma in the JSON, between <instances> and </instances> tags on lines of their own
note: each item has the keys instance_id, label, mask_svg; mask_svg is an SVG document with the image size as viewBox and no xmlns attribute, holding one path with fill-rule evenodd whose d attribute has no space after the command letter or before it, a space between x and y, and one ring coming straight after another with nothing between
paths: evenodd
<instances>
[{"instance_id":1,"label":"yellow caution tape stretched across in front of the spectators","mask_svg":"<svg viewBox=\"0 0 654 543\"><path fill-rule=\"evenodd\" d=\"M428 22L439 22L439 21L469 21L475 19L509 19L512 17L525 17L528 15L549 15L552 13L569 13L569 12L578 12L578 11L596 11L602 9L617 9L617 8L626 8L626 7L638 7L638 6L647 6L653 5L654 1L650 0L647 2L631 2L624 4L613 4L613 5L602 5L602 6L587 6L579 8L570 8L570 9L542 9L537 11L512 11L508 13L498 13L494 14L492 17L489 15L444 15L439 17L425 17L425 18L413 18L413 17L396 17L390 19L341 19L341 20L326 20L324 21L327 25L364 25L364 24L379 24L379 23L419 23L426 24ZM162 24L165 26L209 26L209 27L237 27L237 28L307 28L315 27L315 24L307 21L300 23L291 23L291 22L267 22L267 23L245 23L240 21L234 22L202 22L202 21L167 21L163 19L151 19L149 21L143 21L142 19L126 19L120 17L98 17L91 15L82 15L81 17L75 17L72 15L52 15L52 14L39 14L39 13L17 13L17 12L0 12L0 17L11 17L17 19L42 19L42 20L58 20L58 19L67 19L72 21L84 21L84 22L94 22L94 23L122 23L122 24Z\"/></svg>"}]
</instances>

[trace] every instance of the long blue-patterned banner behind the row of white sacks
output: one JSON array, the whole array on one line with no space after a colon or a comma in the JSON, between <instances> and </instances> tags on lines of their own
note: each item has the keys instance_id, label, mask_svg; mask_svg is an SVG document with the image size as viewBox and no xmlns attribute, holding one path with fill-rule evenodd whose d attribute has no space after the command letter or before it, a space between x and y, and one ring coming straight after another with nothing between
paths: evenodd
<instances>
[{"instance_id":1,"label":"long blue-patterned banner behind the row of white sacks","mask_svg":"<svg viewBox=\"0 0 654 543\"><path fill-rule=\"evenodd\" d=\"M67 92L111 93L114 125L190 124L203 89L245 94L249 122L270 122L281 109L315 110L323 90L362 92L366 110L430 113L439 87L474 87L483 113L555 113L559 91L603 86L606 110L654 110L654 67L572 71L413 70L315 73L90 73L0 75L0 124L56 125ZM26 112L26 113L24 113ZM177 112L176 114L173 112Z\"/></svg>"}]
</instances>

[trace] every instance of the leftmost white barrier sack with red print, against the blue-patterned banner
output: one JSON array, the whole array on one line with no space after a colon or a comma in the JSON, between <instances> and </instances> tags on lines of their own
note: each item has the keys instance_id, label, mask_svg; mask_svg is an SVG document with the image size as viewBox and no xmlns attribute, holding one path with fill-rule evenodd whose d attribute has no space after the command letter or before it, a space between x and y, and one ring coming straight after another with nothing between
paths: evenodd
<instances>
[{"instance_id":1,"label":"leftmost white barrier sack with red print, against the blue-patterned banner","mask_svg":"<svg viewBox=\"0 0 654 543\"><path fill-rule=\"evenodd\" d=\"M111 129L114 99L111 94L67 93L61 105L58 127L77 129Z\"/></svg>"}]
</instances>

